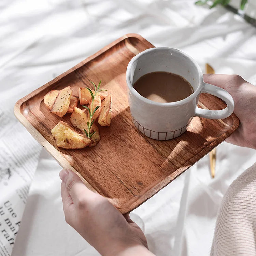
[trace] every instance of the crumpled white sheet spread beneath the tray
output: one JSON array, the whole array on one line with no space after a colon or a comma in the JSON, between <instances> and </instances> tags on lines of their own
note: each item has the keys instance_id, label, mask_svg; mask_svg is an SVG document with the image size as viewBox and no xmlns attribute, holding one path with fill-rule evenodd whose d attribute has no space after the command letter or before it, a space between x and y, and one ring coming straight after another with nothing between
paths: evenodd
<instances>
[{"instance_id":1,"label":"crumpled white sheet spread beneath the tray","mask_svg":"<svg viewBox=\"0 0 256 256\"><path fill-rule=\"evenodd\" d=\"M194 0L2 0L0 9L0 89L13 104L126 33L256 84L256 30L221 7L200 8ZM150 250L209 255L219 203L255 159L256 151L224 142L215 179L205 156L134 210ZM98 255L64 221L60 170L42 150L13 256Z\"/></svg>"}]
</instances>

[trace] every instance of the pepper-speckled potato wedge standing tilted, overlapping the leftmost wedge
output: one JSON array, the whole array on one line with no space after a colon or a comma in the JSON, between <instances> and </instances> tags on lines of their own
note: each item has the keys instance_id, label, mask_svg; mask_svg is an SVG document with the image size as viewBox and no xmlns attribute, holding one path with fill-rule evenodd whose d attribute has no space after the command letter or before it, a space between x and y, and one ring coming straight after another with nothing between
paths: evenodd
<instances>
[{"instance_id":1,"label":"pepper-speckled potato wedge standing tilted, overlapping the leftmost wedge","mask_svg":"<svg viewBox=\"0 0 256 256\"><path fill-rule=\"evenodd\" d=\"M53 104L51 112L59 117L65 115L69 109L71 95L72 89L70 88L70 86L67 86L64 89L60 90Z\"/></svg>"}]
</instances>

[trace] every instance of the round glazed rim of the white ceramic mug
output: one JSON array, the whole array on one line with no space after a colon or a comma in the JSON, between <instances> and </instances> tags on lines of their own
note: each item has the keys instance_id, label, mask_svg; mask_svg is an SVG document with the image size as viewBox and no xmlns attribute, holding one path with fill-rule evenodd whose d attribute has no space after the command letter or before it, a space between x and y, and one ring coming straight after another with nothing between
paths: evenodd
<instances>
[{"instance_id":1,"label":"round glazed rim of the white ceramic mug","mask_svg":"<svg viewBox=\"0 0 256 256\"><path fill-rule=\"evenodd\" d=\"M197 72L198 72L198 75L199 75L199 78L200 78L200 83L199 83L199 86L197 87L197 89L192 93L190 94L188 97L186 97L185 99L182 99L182 100L179 100L179 101L174 101L174 102L156 102L156 101L153 101L153 100L149 100L145 97L143 97L142 95L140 95L138 93L138 91L136 91L134 89L134 87L132 86L132 83L130 81L130 78L129 78L129 75L130 74L130 71L131 71L131 67L133 65L133 63L138 60L144 53L147 53L147 52L152 52L152 51L162 51L162 50L170 50L172 52L176 52L176 53L179 53L179 54L182 54L184 55L185 57L187 57L188 59L190 59L190 61L194 64L194 66L197 68ZM130 62L128 63L128 66L127 66L127 69L126 69L126 83L127 83L127 86L129 88L129 90L131 91L131 93L136 96L137 98L139 98L140 100L144 101L145 103L148 103L148 104L152 104L152 105L155 105L155 106L176 106L176 105L182 105L183 103L187 103L189 102L191 99L195 98L200 92L201 92L201 87L202 87L202 84L203 84L203 73L202 73L202 70L200 69L198 63L192 58L190 57L188 54L178 50L178 49L174 49L174 48L169 48L169 47L154 47L154 48L149 48L149 49L146 49L140 53L138 53L137 55L135 55L131 60Z\"/></svg>"}]
</instances>

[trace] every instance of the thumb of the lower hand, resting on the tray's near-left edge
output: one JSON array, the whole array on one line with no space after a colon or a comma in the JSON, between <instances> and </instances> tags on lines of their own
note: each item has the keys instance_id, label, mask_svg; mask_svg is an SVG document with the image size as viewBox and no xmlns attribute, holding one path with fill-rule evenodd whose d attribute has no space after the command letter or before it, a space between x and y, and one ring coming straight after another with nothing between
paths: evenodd
<instances>
[{"instance_id":1,"label":"thumb of the lower hand, resting on the tray's near-left edge","mask_svg":"<svg viewBox=\"0 0 256 256\"><path fill-rule=\"evenodd\" d=\"M61 170L59 176L65 184L74 204L81 202L81 198L89 198L95 195L95 193L89 190L73 171Z\"/></svg>"}]
</instances>

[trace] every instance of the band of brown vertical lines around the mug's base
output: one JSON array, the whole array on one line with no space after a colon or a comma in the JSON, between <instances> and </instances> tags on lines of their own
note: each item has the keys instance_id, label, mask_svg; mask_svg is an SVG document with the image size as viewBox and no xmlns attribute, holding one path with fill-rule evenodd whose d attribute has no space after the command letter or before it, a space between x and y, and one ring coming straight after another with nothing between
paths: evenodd
<instances>
[{"instance_id":1,"label":"band of brown vertical lines around the mug's base","mask_svg":"<svg viewBox=\"0 0 256 256\"><path fill-rule=\"evenodd\" d=\"M168 132L157 132L157 131L152 131L149 130L145 127L143 127L141 124L139 124L134 117L132 116L132 122L135 125L135 127L143 134L145 134L147 137L150 137L151 139L156 139L156 140L170 140L175 137L180 136L183 132L186 131L187 127L189 124L185 125L179 130L174 130L174 131L168 131Z\"/></svg>"}]
</instances>

